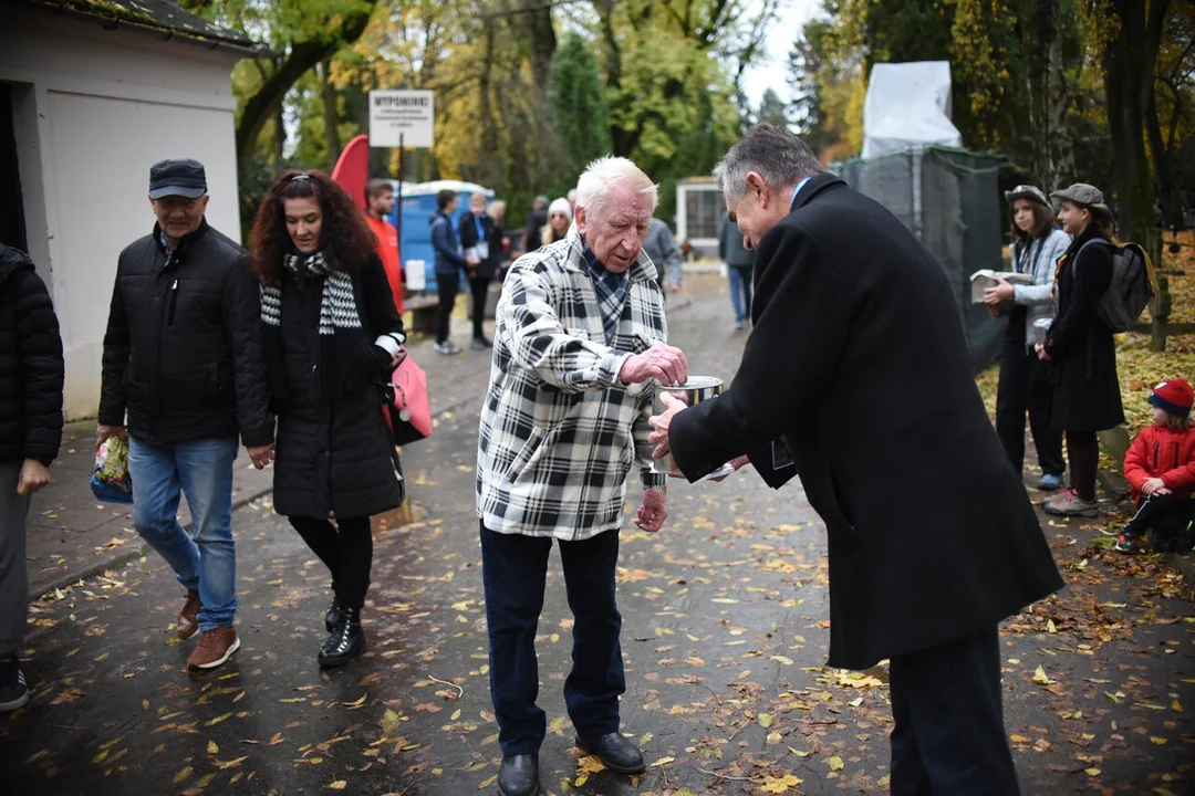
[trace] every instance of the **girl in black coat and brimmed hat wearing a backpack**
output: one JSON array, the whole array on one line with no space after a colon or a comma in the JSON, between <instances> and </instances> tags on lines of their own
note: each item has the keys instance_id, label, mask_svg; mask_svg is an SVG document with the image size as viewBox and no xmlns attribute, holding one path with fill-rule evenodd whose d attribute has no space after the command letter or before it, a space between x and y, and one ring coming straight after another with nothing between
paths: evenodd
<instances>
[{"instance_id":1,"label":"girl in black coat and brimmed hat wearing a backpack","mask_svg":"<svg viewBox=\"0 0 1195 796\"><path fill-rule=\"evenodd\" d=\"M1048 514L1096 517L1096 432L1124 422L1116 341L1097 315L1113 280L1115 222L1104 195L1092 185L1077 183L1050 198L1059 203L1058 220L1073 240L1055 269L1058 315L1046 343L1035 348L1038 358L1052 363L1050 421L1066 433L1071 488L1047 500L1043 508Z\"/></svg>"}]
</instances>

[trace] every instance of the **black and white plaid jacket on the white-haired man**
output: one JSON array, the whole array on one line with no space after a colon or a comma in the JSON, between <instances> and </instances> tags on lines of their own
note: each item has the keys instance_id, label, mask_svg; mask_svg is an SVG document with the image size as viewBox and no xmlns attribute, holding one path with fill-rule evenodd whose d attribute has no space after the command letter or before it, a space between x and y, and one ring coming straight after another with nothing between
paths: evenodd
<instances>
[{"instance_id":1,"label":"black and white plaid jacket on the white-haired man","mask_svg":"<svg viewBox=\"0 0 1195 796\"><path fill-rule=\"evenodd\" d=\"M631 266L614 345L606 345L576 227L510 266L497 309L477 446L477 516L498 533L587 539L618 529L626 475L651 471L655 382L621 384L626 358L668 340L645 254Z\"/></svg>"}]
</instances>

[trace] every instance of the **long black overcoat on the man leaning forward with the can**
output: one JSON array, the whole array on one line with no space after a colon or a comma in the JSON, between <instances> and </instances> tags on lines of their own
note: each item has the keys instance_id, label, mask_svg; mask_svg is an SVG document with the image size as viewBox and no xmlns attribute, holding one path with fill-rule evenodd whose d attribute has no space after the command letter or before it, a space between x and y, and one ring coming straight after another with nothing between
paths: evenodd
<instances>
[{"instance_id":1,"label":"long black overcoat on the man leaning forward with the can","mask_svg":"<svg viewBox=\"0 0 1195 796\"><path fill-rule=\"evenodd\" d=\"M831 666L992 630L1061 587L951 286L900 221L814 178L759 242L752 320L734 382L673 419L672 449L691 481L743 453L772 487L801 476L829 539Z\"/></svg>"}]
</instances>

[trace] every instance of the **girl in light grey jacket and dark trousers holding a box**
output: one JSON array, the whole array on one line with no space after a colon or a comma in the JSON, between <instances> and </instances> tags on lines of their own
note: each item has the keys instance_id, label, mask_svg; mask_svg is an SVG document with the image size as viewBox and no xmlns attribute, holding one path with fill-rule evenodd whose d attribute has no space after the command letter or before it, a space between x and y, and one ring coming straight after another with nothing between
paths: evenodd
<instances>
[{"instance_id":1,"label":"girl in light grey jacket and dark trousers holding a box","mask_svg":"<svg viewBox=\"0 0 1195 796\"><path fill-rule=\"evenodd\" d=\"M1038 489L1062 486L1066 459L1062 434L1050 427L1052 385L1046 366L1034 351L1034 323L1054 316L1054 264L1071 245L1071 236L1055 227L1054 209L1035 185L1018 185L1004 195L1012 217L1012 267L1032 276L1031 285L1013 285L999 279L983 292L983 302L994 313L1012 304L1004 332L1000 356L1000 383L995 393L995 433L1000 437L1012 467L1021 473L1025 461L1025 413L1034 433L1037 463L1042 468Z\"/></svg>"}]
</instances>

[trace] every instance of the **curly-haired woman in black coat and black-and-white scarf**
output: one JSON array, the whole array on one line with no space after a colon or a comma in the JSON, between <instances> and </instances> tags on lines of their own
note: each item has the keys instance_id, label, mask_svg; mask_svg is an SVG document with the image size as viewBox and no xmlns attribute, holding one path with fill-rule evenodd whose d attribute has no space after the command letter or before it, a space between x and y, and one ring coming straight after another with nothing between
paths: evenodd
<instances>
[{"instance_id":1,"label":"curly-haired woman in black coat and black-and-white scarf","mask_svg":"<svg viewBox=\"0 0 1195 796\"><path fill-rule=\"evenodd\" d=\"M379 385L406 335L374 234L326 174L280 177L257 212L253 243L278 418L274 508L332 574L317 660L342 666L364 649L369 518L403 502Z\"/></svg>"}]
</instances>

